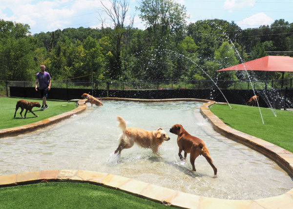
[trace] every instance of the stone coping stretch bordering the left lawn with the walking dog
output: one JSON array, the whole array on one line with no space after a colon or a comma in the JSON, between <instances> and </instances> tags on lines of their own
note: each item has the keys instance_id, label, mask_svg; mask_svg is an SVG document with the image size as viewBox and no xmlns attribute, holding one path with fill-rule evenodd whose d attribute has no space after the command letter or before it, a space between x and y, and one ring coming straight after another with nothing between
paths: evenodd
<instances>
[{"instance_id":1,"label":"stone coping stretch bordering the left lawn with the walking dog","mask_svg":"<svg viewBox=\"0 0 293 209\"><path fill-rule=\"evenodd\" d=\"M6 136L19 135L22 133L35 131L39 128L42 128L42 127L45 127L48 125L56 124L56 123L62 121L63 119L69 118L73 114L78 114L78 113L83 112L86 108L86 104L84 104L84 102L85 102L85 99L79 100L78 101L79 106L76 107L75 109L68 111L68 112L64 112L60 115L53 116L51 118L44 119L42 121L38 121L38 122L35 122L32 124L27 124L27 125L21 125L21 126L17 126L17 127L13 127L13 128L1 129L0 130L0 138L6 137Z\"/></svg>"}]
</instances>

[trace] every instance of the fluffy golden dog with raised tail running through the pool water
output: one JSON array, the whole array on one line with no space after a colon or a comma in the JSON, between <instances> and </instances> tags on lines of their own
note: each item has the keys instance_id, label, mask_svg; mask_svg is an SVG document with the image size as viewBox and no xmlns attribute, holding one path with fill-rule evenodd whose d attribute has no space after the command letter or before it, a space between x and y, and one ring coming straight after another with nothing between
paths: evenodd
<instances>
[{"instance_id":1,"label":"fluffy golden dog with raised tail running through the pool water","mask_svg":"<svg viewBox=\"0 0 293 209\"><path fill-rule=\"evenodd\" d=\"M153 153L157 154L158 147L163 144L164 141L170 140L167 133L158 128L154 131L146 131L140 128L126 128L125 120L117 116L119 127L122 129L122 134L119 137L119 146L115 150L115 154L121 154L122 149L128 149L136 143L144 148L151 148Z\"/></svg>"}]
</instances>

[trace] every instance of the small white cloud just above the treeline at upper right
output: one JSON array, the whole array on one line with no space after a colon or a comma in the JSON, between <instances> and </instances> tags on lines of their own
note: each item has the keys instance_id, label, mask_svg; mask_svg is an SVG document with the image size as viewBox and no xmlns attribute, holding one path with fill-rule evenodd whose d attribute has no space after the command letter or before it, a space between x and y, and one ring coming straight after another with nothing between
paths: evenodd
<instances>
[{"instance_id":1,"label":"small white cloud just above the treeline at upper right","mask_svg":"<svg viewBox=\"0 0 293 209\"><path fill-rule=\"evenodd\" d=\"M270 25L272 24L273 21L274 20L272 18L267 16L265 13L261 12L261 13L252 15L251 17L246 18L242 21L238 21L237 25L239 25L239 27L241 27L242 29L251 28L251 27L255 28L261 25Z\"/></svg>"}]
</instances>

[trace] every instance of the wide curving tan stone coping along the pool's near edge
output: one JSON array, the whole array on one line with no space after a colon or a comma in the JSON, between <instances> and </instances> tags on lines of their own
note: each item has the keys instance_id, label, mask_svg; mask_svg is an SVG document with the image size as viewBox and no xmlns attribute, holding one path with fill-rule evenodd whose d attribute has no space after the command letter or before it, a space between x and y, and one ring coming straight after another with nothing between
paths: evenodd
<instances>
[{"instance_id":1,"label":"wide curving tan stone coping along the pool's near edge","mask_svg":"<svg viewBox=\"0 0 293 209\"><path fill-rule=\"evenodd\" d=\"M142 181L86 170L41 170L0 176L0 187L44 182L79 182L118 189L168 206L185 209L292 209L293 190L258 200L225 200L188 194Z\"/></svg>"}]
</instances>

